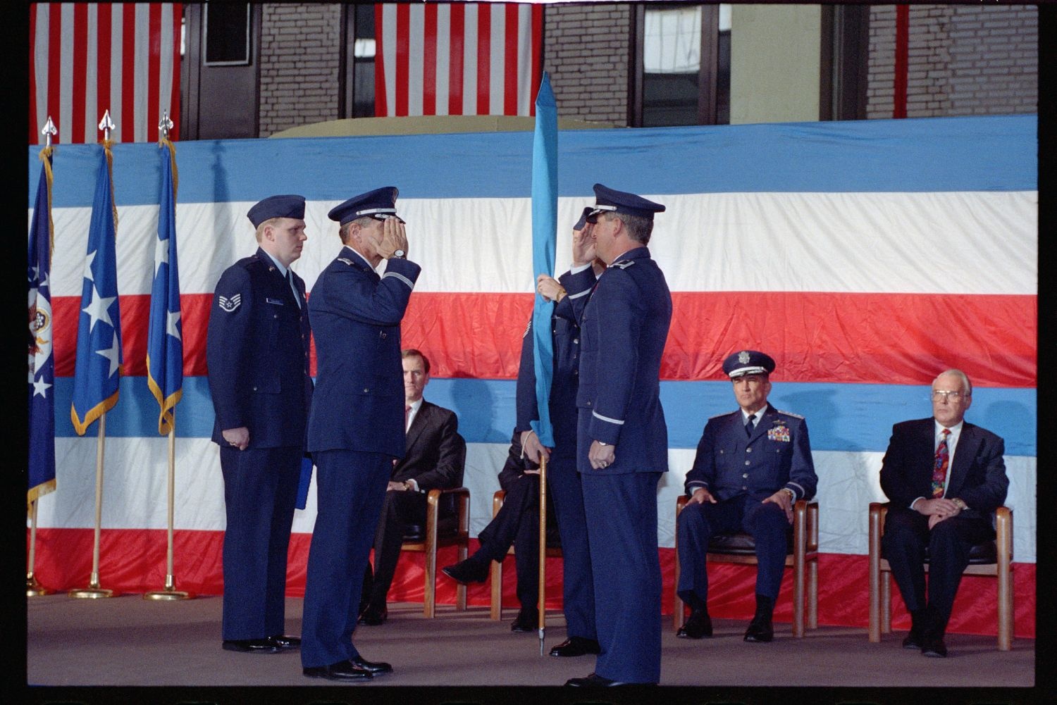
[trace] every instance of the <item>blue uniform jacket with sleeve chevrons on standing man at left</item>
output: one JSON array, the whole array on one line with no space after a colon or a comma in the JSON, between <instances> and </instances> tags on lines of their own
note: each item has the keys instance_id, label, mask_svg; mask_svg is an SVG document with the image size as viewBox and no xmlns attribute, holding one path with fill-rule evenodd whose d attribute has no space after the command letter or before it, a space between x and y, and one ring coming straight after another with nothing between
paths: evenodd
<instances>
[{"instance_id":1,"label":"blue uniform jacket with sleeve chevrons on standing man at left","mask_svg":"<svg viewBox=\"0 0 1057 705\"><path fill-rule=\"evenodd\" d=\"M246 427L249 446L304 446L312 401L304 281L291 271L298 300L272 258L258 248L217 282L206 334L206 365L221 432Z\"/></svg>"}]
</instances>

